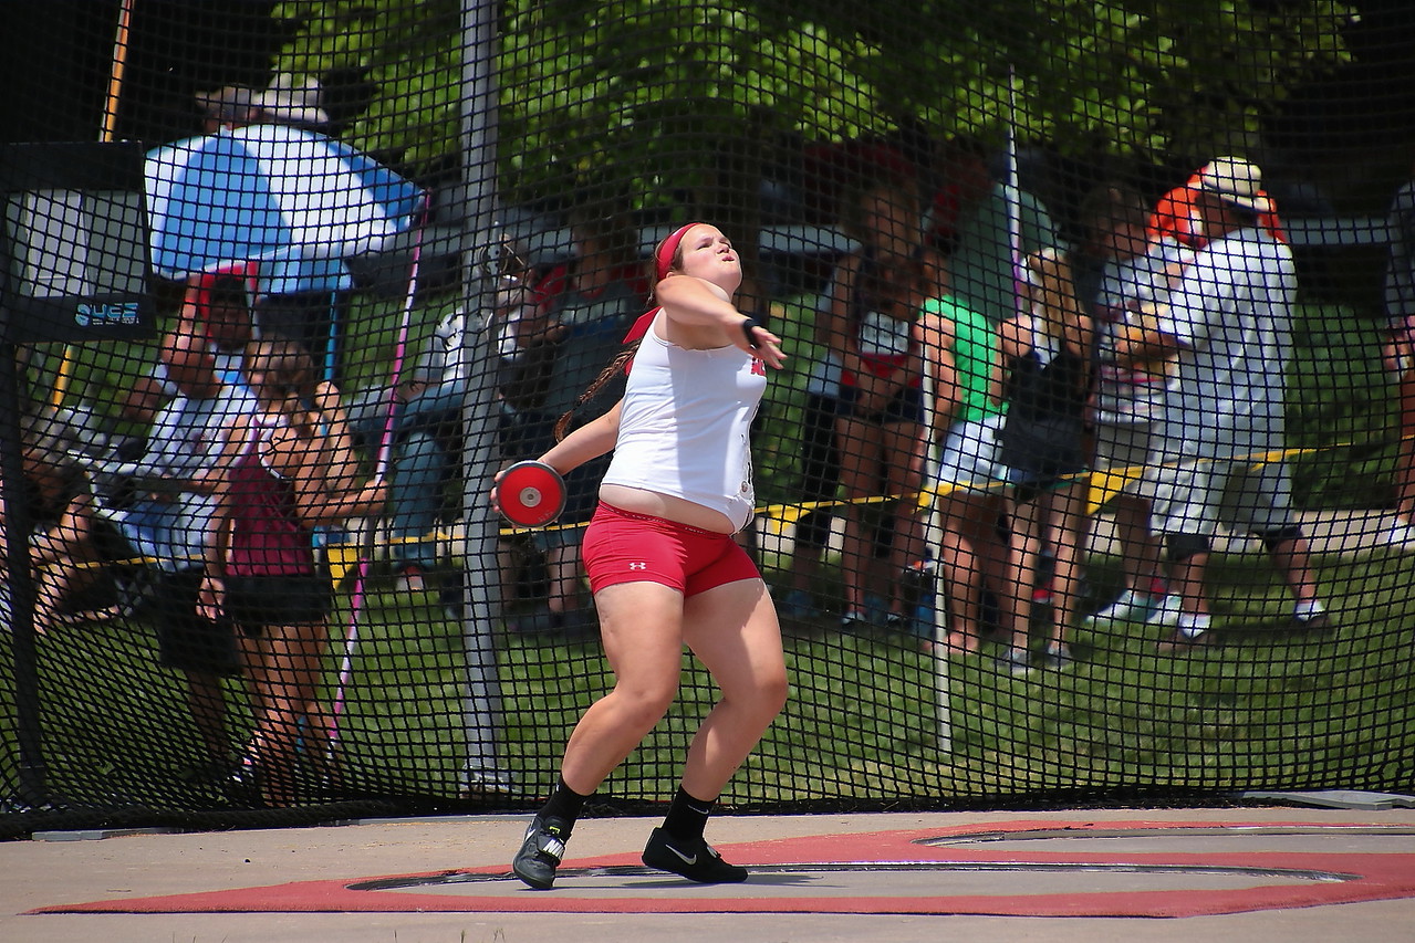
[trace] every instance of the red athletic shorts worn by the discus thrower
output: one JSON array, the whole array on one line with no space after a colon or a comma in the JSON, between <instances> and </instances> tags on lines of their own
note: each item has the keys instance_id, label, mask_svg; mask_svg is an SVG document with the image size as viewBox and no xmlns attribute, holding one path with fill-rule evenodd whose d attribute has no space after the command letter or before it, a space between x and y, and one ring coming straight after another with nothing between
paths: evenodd
<instances>
[{"instance_id":1,"label":"red athletic shorts worn by the discus thrower","mask_svg":"<svg viewBox=\"0 0 1415 943\"><path fill-rule=\"evenodd\" d=\"M618 582L661 582L696 595L756 580L757 564L730 534L638 515L600 502L580 544L590 591Z\"/></svg>"}]
</instances>

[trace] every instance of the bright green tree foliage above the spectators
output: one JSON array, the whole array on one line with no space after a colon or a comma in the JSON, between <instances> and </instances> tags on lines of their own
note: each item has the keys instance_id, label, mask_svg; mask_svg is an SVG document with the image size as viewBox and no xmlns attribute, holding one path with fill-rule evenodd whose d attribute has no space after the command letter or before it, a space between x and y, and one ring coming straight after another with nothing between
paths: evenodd
<instances>
[{"instance_id":1,"label":"bright green tree foliage above the spectators","mask_svg":"<svg viewBox=\"0 0 1415 943\"><path fill-rule=\"evenodd\" d=\"M289 0L277 68L364 69L345 137L427 167L457 153L457 0ZM935 136L1203 158L1347 57L1333 0L502 0L502 185L606 180L638 204L710 185L782 136ZM686 136L686 137L685 137ZM685 140L700 157L685 158ZM719 174L719 180L720 174Z\"/></svg>"}]
</instances>

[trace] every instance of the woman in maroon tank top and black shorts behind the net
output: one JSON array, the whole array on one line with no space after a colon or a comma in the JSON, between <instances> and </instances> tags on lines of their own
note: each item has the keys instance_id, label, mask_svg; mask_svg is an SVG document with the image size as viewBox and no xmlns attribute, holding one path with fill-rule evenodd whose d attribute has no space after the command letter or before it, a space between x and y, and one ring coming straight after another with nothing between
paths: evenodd
<instances>
[{"instance_id":1,"label":"woman in maroon tank top and black shorts behind the net","mask_svg":"<svg viewBox=\"0 0 1415 943\"><path fill-rule=\"evenodd\" d=\"M311 532L378 513L386 493L361 482L338 393L316 383L301 345L252 341L243 362L256 409L225 428L198 611L239 629L256 710L248 761L265 802L282 806L294 799L296 742L314 763L330 752L317 693L331 585Z\"/></svg>"}]
</instances>

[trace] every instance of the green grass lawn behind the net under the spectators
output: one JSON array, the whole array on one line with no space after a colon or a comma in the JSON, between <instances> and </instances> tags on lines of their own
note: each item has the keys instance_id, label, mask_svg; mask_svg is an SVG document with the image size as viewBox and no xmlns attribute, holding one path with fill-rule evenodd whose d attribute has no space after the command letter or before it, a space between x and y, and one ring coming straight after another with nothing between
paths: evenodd
<instances>
[{"instance_id":1,"label":"green grass lawn behind the net under the spectators","mask_svg":"<svg viewBox=\"0 0 1415 943\"><path fill-rule=\"evenodd\" d=\"M1109 564L1092 568L1099 582ZM788 623L791 703L724 799L739 807L941 806L1408 787L1415 769L1409 557L1381 551L1322 561L1319 580L1339 622L1330 636L1276 631L1286 604L1258 561L1220 560L1214 574L1223 587L1221 646L1174 657L1155 653L1156 632L1145 626L1078 632L1080 659L1064 673L1017 679L988 652L951 659L942 698L941 667L914 639ZM386 577L374 580L340 722L351 780L454 802L468 725L490 722L499 765L529 797L538 795L579 714L610 684L599 643L497 629L502 715L466 718L461 623L447 621L433 597L409 607L381 591ZM347 625L347 614L337 625ZM330 700L342 645L333 648ZM40 639L40 653L45 759L59 795L95 804L219 807L214 790L173 778L198 759L195 735L177 677L156 666L146 625L51 633ZM686 659L685 667L679 704L601 796L671 795L686 738L713 698L706 674ZM8 686L8 664L3 676ZM13 739L11 717L4 732Z\"/></svg>"}]
</instances>

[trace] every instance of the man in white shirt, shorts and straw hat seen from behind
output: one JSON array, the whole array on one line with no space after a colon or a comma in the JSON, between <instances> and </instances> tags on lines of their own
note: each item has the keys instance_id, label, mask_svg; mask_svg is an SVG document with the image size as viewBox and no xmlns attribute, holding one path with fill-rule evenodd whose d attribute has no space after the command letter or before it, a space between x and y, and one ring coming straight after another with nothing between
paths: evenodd
<instances>
[{"instance_id":1,"label":"man in white shirt, shorts and straw hat seen from behind","mask_svg":"<svg viewBox=\"0 0 1415 943\"><path fill-rule=\"evenodd\" d=\"M1150 618L1173 626L1163 650L1213 640L1204 568L1220 522L1266 547L1293 597L1292 628L1330 619L1292 512L1283 448L1283 369L1296 294L1292 250L1268 233L1259 168L1238 157L1204 167L1196 205L1207 243L1153 325L1129 332L1133 359L1173 353L1163 431L1152 455L1155 529L1165 537L1177 597Z\"/></svg>"}]
</instances>

